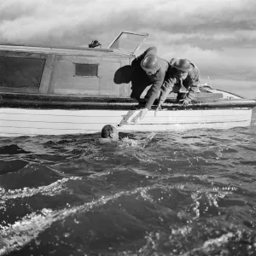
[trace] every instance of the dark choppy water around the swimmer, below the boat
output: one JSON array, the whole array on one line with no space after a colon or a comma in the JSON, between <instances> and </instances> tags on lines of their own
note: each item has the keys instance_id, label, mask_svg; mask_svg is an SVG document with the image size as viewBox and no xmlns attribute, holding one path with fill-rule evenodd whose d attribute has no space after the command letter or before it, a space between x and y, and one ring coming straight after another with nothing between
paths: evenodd
<instances>
[{"instance_id":1,"label":"dark choppy water around the swimmer, below the boat","mask_svg":"<svg viewBox=\"0 0 256 256\"><path fill-rule=\"evenodd\" d=\"M248 128L97 137L0 138L0 255L256 255L255 109Z\"/></svg>"}]
</instances>

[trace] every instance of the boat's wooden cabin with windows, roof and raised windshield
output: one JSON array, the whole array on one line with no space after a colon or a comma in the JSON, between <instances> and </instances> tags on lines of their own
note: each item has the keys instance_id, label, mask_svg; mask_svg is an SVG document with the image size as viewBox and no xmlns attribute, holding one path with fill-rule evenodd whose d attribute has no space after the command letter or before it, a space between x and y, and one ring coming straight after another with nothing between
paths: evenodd
<instances>
[{"instance_id":1,"label":"boat's wooden cabin with windows, roof and raised windshield","mask_svg":"<svg viewBox=\"0 0 256 256\"><path fill-rule=\"evenodd\" d=\"M51 96L131 94L115 84L114 73L130 65L148 34L121 32L108 49L40 45L0 45L0 92Z\"/></svg>"}]
</instances>

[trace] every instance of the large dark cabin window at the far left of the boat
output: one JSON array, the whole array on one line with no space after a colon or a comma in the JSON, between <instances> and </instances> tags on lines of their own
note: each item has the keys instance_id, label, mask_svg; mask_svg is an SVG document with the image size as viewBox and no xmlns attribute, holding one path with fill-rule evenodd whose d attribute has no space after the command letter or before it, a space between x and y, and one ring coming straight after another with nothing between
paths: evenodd
<instances>
[{"instance_id":1,"label":"large dark cabin window at the far left of the boat","mask_svg":"<svg viewBox=\"0 0 256 256\"><path fill-rule=\"evenodd\" d=\"M38 90L45 59L0 56L0 87Z\"/></svg>"}]
</instances>

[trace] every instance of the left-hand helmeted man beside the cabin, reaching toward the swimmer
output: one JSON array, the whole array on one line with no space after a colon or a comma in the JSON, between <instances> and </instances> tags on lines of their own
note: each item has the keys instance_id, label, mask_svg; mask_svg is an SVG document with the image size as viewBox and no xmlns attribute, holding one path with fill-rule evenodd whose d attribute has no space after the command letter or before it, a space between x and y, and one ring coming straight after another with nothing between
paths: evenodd
<instances>
[{"instance_id":1,"label":"left-hand helmeted man beside the cabin, reaching toward the swimmer","mask_svg":"<svg viewBox=\"0 0 256 256\"><path fill-rule=\"evenodd\" d=\"M156 55L156 47L149 47L142 55L137 56L131 62L132 79L131 79L131 98L140 102L140 96L143 91L152 84L145 96L145 108L141 111L141 119L152 107L154 101L159 96L160 88L164 83L166 72L169 68L168 61L161 59Z\"/></svg>"}]
</instances>

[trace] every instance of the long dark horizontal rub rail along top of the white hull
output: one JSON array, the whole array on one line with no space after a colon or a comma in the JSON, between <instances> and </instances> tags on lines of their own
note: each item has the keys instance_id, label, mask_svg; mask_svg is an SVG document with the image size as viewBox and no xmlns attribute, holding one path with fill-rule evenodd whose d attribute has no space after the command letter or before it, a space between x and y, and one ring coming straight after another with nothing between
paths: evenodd
<instances>
[{"instance_id":1,"label":"long dark horizontal rub rail along top of the white hull","mask_svg":"<svg viewBox=\"0 0 256 256\"><path fill-rule=\"evenodd\" d=\"M65 109L140 109L139 105L130 98L96 97L96 96L40 96L26 94L0 94L0 106L5 108L65 108ZM163 108L178 109L216 109L216 108L253 108L253 100L234 100L195 103L188 107L166 100ZM156 106L154 105L153 108Z\"/></svg>"}]
</instances>

